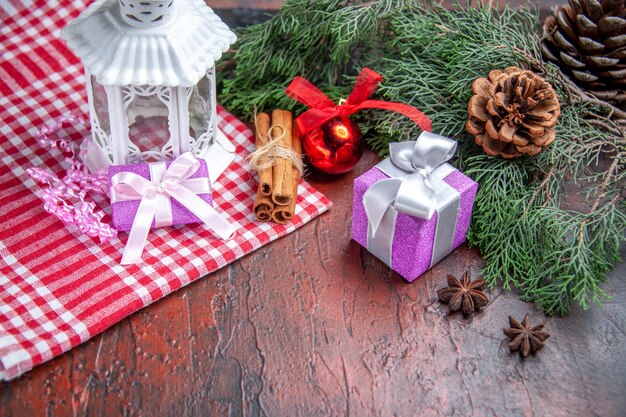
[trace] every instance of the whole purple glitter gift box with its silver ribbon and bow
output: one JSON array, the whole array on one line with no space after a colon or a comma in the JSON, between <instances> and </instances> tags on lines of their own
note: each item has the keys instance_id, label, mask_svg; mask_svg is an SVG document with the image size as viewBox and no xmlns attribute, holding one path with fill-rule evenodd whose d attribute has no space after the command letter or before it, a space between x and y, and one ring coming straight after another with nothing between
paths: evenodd
<instances>
[{"instance_id":1,"label":"whole purple glitter gift box with its silver ribbon and bow","mask_svg":"<svg viewBox=\"0 0 626 417\"><path fill-rule=\"evenodd\" d=\"M354 180L352 239L409 282L466 240L478 184L445 162L455 149L424 132L391 144L390 158Z\"/></svg>"}]
</instances>

